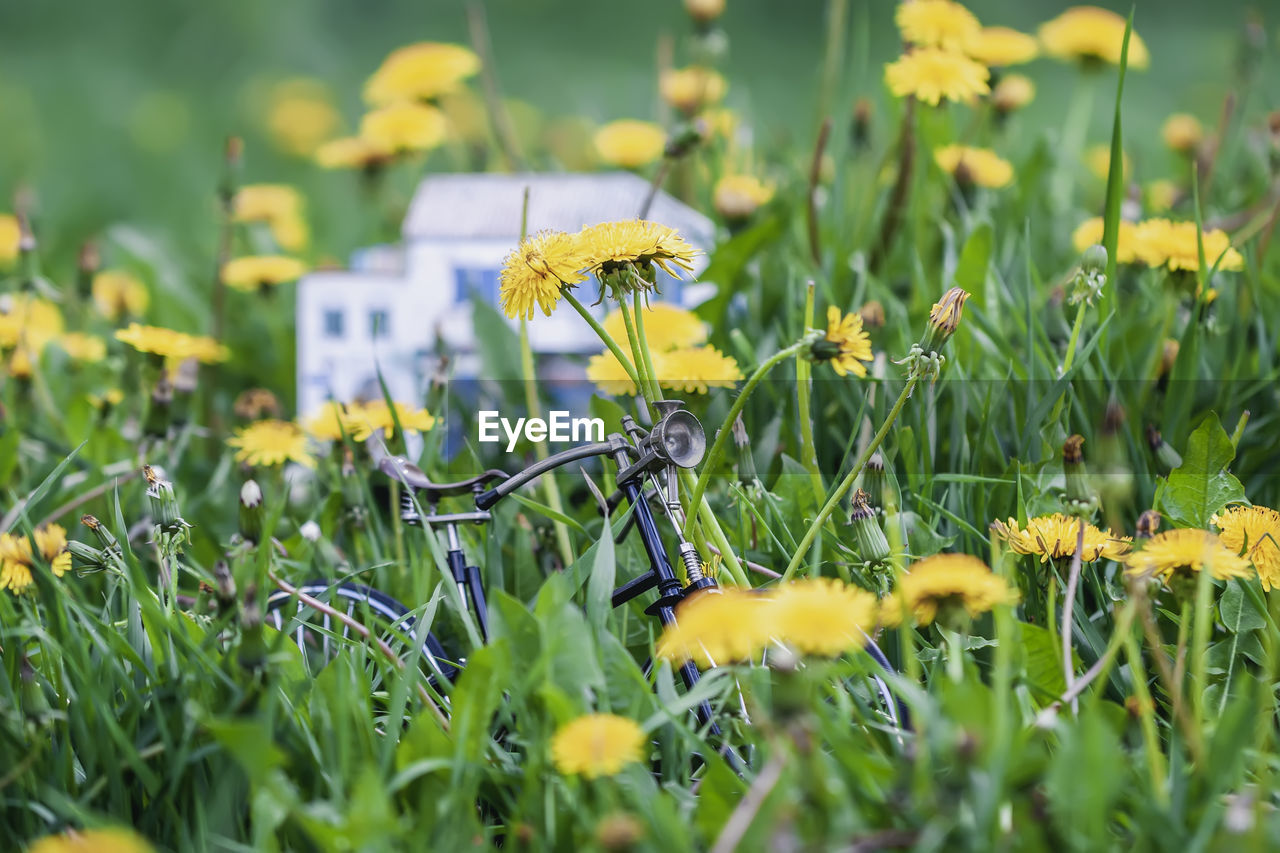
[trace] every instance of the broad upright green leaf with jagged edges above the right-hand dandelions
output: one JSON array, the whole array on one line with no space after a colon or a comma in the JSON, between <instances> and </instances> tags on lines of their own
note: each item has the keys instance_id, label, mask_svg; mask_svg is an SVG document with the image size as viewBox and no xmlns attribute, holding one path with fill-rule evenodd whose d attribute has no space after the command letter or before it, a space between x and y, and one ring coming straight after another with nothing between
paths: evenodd
<instances>
[{"instance_id":1,"label":"broad upright green leaf with jagged edges above the right-hand dandelions","mask_svg":"<svg viewBox=\"0 0 1280 853\"><path fill-rule=\"evenodd\" d=\"M1161 496L1161 508L1175 525L1207 528L1215 512L1244 500L1244 487L1226 470L1233 459L1231 437L1210 412L1187 439L1183 464L1169 475Z\"/></svg>"}]
</instances>

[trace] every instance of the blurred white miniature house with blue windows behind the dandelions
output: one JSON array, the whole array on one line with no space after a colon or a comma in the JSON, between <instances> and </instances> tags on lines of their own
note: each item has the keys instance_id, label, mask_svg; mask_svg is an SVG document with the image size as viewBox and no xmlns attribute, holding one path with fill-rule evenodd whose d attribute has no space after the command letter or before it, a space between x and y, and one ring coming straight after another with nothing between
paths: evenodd
<instances>
[{"instance_id":1,"label":"blurred white miniature house with blue windows behind the dandelions","mask_svg":"<svg viewBox=\"0 0 1280 853\"><path fill-rule=\"evenodd\" d=\"M634 219L649 182L627 172L428 177L413 195L401 246L361 250L349 269L316 270L298 282L298 411L312 412L330 398L379 397L379 370L396 398L417 400L439 351L453 357L454 377L475 377L472 300L498 304L498 273L520 241L526 188L529 233L572 232ZM703 251L696 275L713 245L712 222L666 192L657 195L648 218L676 228ZM579 286L584 304L595 301L598 287L594 280ZM664 301L692 306L712 286L659 278L659 288ZM593 310L603 316L604 306ZM552 316L536 313L529 339L538 353L602 350L567 306Z\"/></svg>"}]
</instances>

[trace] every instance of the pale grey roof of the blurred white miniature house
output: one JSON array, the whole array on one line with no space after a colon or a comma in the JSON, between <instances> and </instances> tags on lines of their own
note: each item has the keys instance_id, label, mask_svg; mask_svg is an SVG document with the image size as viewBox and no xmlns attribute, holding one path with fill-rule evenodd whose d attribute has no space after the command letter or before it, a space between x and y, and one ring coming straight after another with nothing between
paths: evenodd
<instances>
[{"instance_id":1,"label":"pale grey roof of the blurred white miniature house","mask_svg":"<svg viewBox=\"0 0 1280 853\"><path fill-rule=\"evenodd\" d=\"M594 174L434 174L419 184L404 216L404 240L509 240L520 237L529 187L529 233L544 228L577 231L600 222L634 219L649 182L630 172ZM716 228L689 205L659 191L649 219L671 225L709 248Z\"/></svg>"}]
</instances>

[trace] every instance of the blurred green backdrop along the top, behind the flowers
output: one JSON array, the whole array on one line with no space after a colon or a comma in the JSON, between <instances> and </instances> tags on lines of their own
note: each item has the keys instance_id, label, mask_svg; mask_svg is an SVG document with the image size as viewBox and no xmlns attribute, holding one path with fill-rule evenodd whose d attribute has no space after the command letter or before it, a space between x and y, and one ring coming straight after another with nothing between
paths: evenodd
<instances>
[{"instance_id":1,"label":"blurred green backdrop along the top, behind the flowers","mask_svg":"<svg viewBox=\"0 0 1280 853\"><path fill-rule=\"evenodd\" d=\"M983 23L1034 32L1069 4L969 5ZM657 118L659 44L666 36L680 64L689 33L680 0L488 0L484 8L503 95L525 137L554 132L564 117ZM325 126L328 136L352 132L361 86L394 47L468 41L462 0L4 0L0 10L0 210L12 209L19 187L29 188L45 256L63 259L64 272L81 241L119 223L155 252L188 263L200 250L195 256L205 252L211 263L212 200L223 140L232 133L246 141L244 179L298 186L310 200L314 245L342 259L374 233L353 213L357 181L291 154L283 137L310 126ZM849 4L847 70L832 101L837 122L847 120L858 96L884 101L882 63L899 49L892 12L888 0ZM1126 91L1130 152L1140 158L1149 146L1158 155L1160 123L1170 111L1215 124L1247 40L1280 35L1277 13L1270 0L1139 3L1135 28L1152 63L1130 77ZM788 168L806 156L818 122L826 17L819 0L728 0L722 18L727 104L748 118L774 163L794 161ZM1073 69L1052 60L1025 70L1042 92L1073 86ZM1275 72L1265 69L1258 79L1275 79ZM291 97L321 108L282 115ZM1065 99L1065 91L1041 97L1021 120L1056 131ZM1265 101L1251 95L1244 106L1280 106ZM1111 95L1100 88L1094 106L1091 142L1105 140ZM283 124L274 133L273 115ZM887 140L892 127L882 120L874 132ZM447 152L426 165L465 167Z\"/></svg>"}]
</instances>

